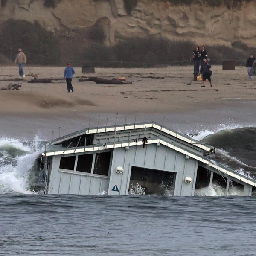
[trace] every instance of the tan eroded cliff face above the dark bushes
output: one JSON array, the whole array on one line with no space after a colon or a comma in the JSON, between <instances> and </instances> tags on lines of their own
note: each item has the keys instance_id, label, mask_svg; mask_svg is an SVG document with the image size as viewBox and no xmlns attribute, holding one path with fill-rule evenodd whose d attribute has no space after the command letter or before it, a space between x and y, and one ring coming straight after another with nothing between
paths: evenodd
<instances>
[{"instance_id":1,"label":"tan eroded cliff face above the dark bushes","mask_svg":"<svg viewBox=\"0 0 256 256\"><path fill-rule=\"evenodd\" d=\"M128 15L123 0L61 0L55 8L47 8L43 0L5 0L0 22L9 18L38 20L46 29L67 37L76 37L81 29L98 22L105 30L106 45L127 37L161 35L200 45L241 41L255 46L255 14L256 1L228 9L209 7L207 1L174 6L165 0L138 0Z\"/></svg>"}]
</instances>

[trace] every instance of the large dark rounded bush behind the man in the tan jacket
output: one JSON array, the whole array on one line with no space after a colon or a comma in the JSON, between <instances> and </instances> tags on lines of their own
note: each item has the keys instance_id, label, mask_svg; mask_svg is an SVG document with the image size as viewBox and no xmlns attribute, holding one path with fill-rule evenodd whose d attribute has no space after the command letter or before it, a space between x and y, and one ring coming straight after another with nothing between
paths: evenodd
<instances>
[{"instance_id":1,"label":"large dark rounded bush behind the man in the tan jacket","mask_svg":"<svg viewBox=\"0 0 256 256\"><path fill-rule=\"evenodd\" d=\"M60 51L52 32L44 29L37 21L7 20L0 31L2 53L14 59L17 49L26 52L29 64L56 64ZM14 52L13 52L14 51Z\"/></svg>"}]
</instances>

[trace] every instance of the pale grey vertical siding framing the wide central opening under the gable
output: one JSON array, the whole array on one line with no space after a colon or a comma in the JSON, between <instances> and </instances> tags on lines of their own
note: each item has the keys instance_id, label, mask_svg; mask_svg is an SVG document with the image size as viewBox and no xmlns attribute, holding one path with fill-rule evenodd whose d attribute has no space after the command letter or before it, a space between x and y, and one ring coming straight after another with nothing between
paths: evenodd
<instances>
[{"instance_id":1,"label":"pale grey vertical siding framing the wide central opening under the gable","mask_svg":"<svg viewBox=\"0 0 256 256\"><path fill-rule=\"evenodd\" d=\"M116 167L118 166L122 166L122 174L116 172ZM108 189L109 195L127 194L131 166L176 172L179 175L177 175L175 181L175 188L177 190L175 195L192 195L197 161L192 158L186 159L184 154L157 144L146 145L146 148L139 145L128 149L116 148L114 150L110 186ZM191 184L184 183L184 178L187 176L192 178ZM115 185L118 187L119 192L112 191Z\"/></svg>"}]
</instances>

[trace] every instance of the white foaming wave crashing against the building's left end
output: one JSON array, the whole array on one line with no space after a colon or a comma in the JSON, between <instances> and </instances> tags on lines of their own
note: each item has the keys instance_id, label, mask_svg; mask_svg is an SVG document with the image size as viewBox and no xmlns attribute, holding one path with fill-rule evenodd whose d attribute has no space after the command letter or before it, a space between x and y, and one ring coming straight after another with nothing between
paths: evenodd
<instances>
[{"instance_id":1,"label":"white foaming wave crashing against the building's left end","mask_svg":"<svg viewBox=\"0 0 256 256\"><path fill-rule=\"evenodd\" d=\"M0 193L32 194L29 190L29 173L42 151L36 136L32 143L21 140L0 139Z\"/></svg>"}]
</instances>

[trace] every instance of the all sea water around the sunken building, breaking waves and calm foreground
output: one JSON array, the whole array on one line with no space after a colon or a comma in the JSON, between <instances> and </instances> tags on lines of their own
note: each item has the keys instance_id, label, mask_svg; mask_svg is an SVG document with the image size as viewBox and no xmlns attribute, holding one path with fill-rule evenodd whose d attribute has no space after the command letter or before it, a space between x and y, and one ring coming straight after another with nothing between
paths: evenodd
<instances>
[{"instance_id":1,"label":"all sea water around the sunken building, breaking waves and calm foreground","mask_svg":"<svg viewBox=\"0 0 256 256\"><path fill-rule=\"evenodd\" d=\"M256 177L256 127L192 134L211 159ZM44 195L34 191L44 147L0 138L0 255L256 255L256 197L214 185L195 197Z\"/></svg>"}]
</instances>

